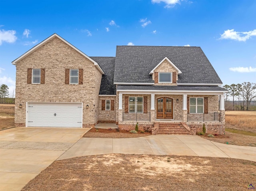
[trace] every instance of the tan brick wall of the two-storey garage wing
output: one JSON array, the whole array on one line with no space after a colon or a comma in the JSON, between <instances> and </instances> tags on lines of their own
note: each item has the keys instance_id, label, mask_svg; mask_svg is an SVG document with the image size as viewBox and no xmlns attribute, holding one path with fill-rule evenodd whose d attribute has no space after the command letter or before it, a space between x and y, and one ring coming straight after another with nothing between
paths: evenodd
<instances>
[{"instance_id":1,"label":"tan brick wall of the two-storey garage wing","mask_svg":"<svg viewBox=\"0 0 256 191\"><path fill-rule=\"evenodd\" d=\"M28 84L28 68L45 68L45 83ZM83 84L65 84L65 69L83 69ZM94 126L101 77L92 61L55 37L16 64L15 124L26 123L26 102L83 102L83 127Z\"/></svg>"}]
</instances>

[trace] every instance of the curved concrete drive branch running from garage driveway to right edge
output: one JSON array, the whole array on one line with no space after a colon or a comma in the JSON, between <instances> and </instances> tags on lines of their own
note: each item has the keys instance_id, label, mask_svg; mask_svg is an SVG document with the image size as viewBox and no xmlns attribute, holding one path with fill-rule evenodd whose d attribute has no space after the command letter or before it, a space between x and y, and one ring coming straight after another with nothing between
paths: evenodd
<instances>
[{"instance_id":1,"label":"curved concrete drive branch running from garage driveway to right edge","mask_svg":"<svg viewBox=\"0 0 256 191\"><path fill-rule=\"evenodd\" d=\"M256 147L226 145L192 135L151 135L139 138L82 138L60 158L99 154L187 155L256 161Z\"/></svg>"}]
</instances>

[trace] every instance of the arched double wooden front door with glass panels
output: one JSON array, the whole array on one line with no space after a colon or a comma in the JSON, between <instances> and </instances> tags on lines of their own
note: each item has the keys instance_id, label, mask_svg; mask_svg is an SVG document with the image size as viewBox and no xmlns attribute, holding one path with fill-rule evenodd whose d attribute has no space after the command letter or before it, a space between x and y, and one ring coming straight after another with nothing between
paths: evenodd
<instances>
[{"instance_id":1,"label":"arched double wooden front door with glass panels","mask_svg":"<svg viewBox=\"0 0 256 191\"><path fill-rule=\"evenodd\" d=\"M161 97L156 99L156 118L173 119L173 99Z\"/></svg>"}]
</instances>

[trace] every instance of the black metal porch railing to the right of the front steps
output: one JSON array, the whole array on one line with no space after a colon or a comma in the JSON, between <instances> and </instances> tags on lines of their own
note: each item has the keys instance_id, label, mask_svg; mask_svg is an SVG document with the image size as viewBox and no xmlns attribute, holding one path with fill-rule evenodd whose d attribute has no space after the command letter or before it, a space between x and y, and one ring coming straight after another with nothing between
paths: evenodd
<instances>
[{"instance_id":1,"label":"black metal porch railing to the right of the front steps","mask_svg":"<svg viewBox=\"0 0 256 191\"><path fill-rule=\"evenodd\" d=\"M220 121L220 113L188 113L188 121Z\"/></svg>"}]
</instances>

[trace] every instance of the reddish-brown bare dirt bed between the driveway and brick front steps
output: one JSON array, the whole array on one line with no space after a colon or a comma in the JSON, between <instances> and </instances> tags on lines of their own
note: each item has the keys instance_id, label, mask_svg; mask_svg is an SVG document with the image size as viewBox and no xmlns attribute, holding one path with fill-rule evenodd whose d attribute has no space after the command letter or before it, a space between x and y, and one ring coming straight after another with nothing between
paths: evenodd
<instances>
[{"instance_id":1,"label":"reddish-brown bare dirt bed between the driveway and brick front steps","mask_svg":"<svg viewBox=\"0 0 256 191\"><path fill-rule=\"evenodd\" d=\"M120 130L117 132L115 129L112 129L111 131L108 129L98 129L92 128L90 131L88 131L86 134L84 134L84 137L90 137L90 138L134 138L134 137L144 137L149 136L151 133L144 132L141 133L140 131L137 134L130 133L126 130Z\"/></svg>"}]
</instances>

